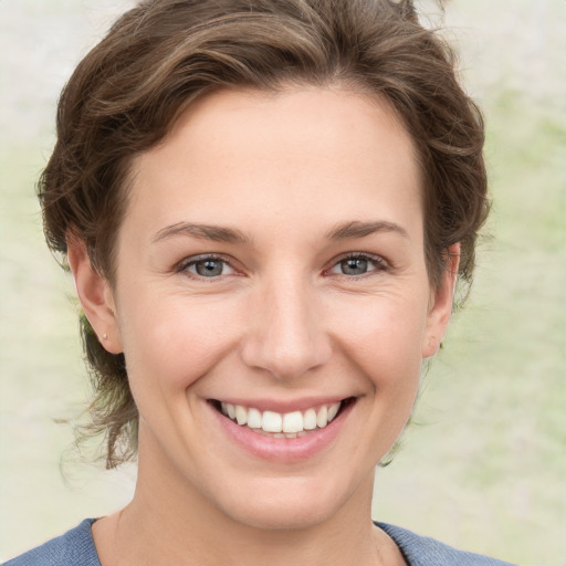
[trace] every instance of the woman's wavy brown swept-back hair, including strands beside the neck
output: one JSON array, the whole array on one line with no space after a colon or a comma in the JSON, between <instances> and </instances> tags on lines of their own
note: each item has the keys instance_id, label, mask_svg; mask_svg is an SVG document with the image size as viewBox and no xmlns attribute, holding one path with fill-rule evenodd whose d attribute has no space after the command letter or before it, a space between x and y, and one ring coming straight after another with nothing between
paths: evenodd
<instances>
[{"instance_id":1,"label":"woman's wavy brown swept-back hair, including strands beside the neck","mask_svg":"<svg viewBox=\"0 0 566 566\"><path fill-rule=\"evenodd\" d=\"M78 64L63 90L57 142L39 182L45 237L62 256L82 239L115 281L114 243L133 158L157 144L197 97L220 88L343 84L388 101L410 133L423 174L431 281L460 242L470 283L488 214L483 122L454 74L451 50L411 1L144 0ZM137 409L124 355L82 317L95 389L88 432L106 434L106 464L136 452Z\"/></svg>"}]
</instances>

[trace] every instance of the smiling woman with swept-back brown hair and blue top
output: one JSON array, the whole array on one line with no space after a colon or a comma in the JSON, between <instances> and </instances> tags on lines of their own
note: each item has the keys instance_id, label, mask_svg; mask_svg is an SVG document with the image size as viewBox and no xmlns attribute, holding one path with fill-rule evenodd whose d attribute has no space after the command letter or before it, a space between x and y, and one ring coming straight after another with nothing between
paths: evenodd
<instances>
[{"instance_id":1,"label":"smiling woman with swept-back brown hair and blue top","mask_svg":"<svg viewBox=\"0 0 566 566\"><path fill-rule=\"evenodd\" d=\"M10 560L502 564L371 522L488 211L410 2L153 0L76 69L40 182L129 505Z\"/></svg>"}]
</instances>

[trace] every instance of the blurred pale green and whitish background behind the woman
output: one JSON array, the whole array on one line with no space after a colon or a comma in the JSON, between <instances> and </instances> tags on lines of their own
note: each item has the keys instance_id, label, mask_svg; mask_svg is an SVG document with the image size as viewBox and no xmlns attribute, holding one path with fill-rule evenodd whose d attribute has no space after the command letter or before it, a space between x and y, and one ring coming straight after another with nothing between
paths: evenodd
<instances>
[{"instance_id":1,"label":"blurred pale green and whitish background behind the woman","mask_svg":"<svg viewBox=\"0 0 566 566\"><path fill-rule=\"evenodd\" d=\"M123 505L134 488L132 467L61 472L73 436L55 419L75 416L88 387L72 283L46 251L34 197L59 92L130 3L0 2L0 562ZM378 471L374 514L511 562L564 565L566 2L444 6L486 116L494 210L471 298L403 449Z\"/></svg>"}]
</instances>

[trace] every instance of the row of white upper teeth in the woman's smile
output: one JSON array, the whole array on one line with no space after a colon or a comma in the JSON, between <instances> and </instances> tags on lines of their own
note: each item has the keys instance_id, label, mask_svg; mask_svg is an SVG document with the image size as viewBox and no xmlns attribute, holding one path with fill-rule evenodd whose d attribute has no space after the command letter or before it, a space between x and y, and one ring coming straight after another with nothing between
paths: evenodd
<instances>
[{"instance_id":1,"label":"row of white upper teeth in the woman's smile","mask_svg":"<svg viewBox=\"0 0 566 566\"><path fill-rule=\"evenodd\" d=\"M304 412L293 411L284 415L274 411L263 411L247 408L241 405L222 402L222 412L238 424L247 424L252 429L261 429L264 432L300 434L306 430L315 428L323 429L337 415L340 408L340 401L332 405L323 405L318 409L312 408ZM283 434L282 434L283 436Z\"/></svg>"}]
</instances>

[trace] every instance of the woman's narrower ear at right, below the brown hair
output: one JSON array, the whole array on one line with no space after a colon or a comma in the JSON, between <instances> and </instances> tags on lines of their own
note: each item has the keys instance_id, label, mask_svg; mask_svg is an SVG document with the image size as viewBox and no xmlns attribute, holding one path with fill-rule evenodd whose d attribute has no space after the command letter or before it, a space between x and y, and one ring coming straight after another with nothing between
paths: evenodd
<instances>
[{"instance_id":1,"label":"woman's narrower ear at right, below the brown hair","mask_svg":"<svg viewBox=\"0 0 566 566\"><path fill-rule=\"evenodd\" d=\"M460 264L460 244L454 243L448 249L448 261L446 270L442 273L439 285L431 290L430 305L427 315L427 329L422 342L422 357L433 356L442 336L450 322L452 314L452 304L454 300L454 289L458 277L458 265Z\"/></svg>"}]
</instances>

